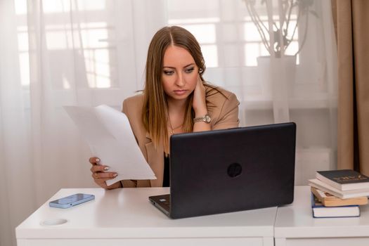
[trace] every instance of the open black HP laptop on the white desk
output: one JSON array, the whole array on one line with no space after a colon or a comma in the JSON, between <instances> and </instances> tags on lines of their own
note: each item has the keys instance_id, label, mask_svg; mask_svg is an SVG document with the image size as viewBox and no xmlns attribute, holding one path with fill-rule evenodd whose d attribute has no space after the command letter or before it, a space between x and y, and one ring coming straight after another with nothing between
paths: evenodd
<instances>
[{"instance_id":1,"label":"open black HP laptop on the white desk","mask_svg":"<svg viewBox=\"0 0 369 246\"><path fill-rule=\"evenodd\" d=\"M293 202L296 124L176 134L170 194L150 202L172 219Z\"/></svg>"}]
</instances>

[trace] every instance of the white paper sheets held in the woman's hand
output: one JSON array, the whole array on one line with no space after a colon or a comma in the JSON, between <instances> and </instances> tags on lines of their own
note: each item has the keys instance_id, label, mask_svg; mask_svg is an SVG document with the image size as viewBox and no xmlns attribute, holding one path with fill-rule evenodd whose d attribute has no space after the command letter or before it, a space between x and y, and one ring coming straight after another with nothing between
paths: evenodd
<instances>
[{"instance_id":1,"label":"white paper sheets held in the woman's hand","mask_svg":"<svg viewBox=\"0 0 369 246\"><path fill-rule=\"evenodd\" d=\"M123 179L156 179L124 113L107 105L63 108L89 143L92 154L108 165L109 171L117 172L115 179L106 181L108 186Z\"/></svg>"}]
</instances>

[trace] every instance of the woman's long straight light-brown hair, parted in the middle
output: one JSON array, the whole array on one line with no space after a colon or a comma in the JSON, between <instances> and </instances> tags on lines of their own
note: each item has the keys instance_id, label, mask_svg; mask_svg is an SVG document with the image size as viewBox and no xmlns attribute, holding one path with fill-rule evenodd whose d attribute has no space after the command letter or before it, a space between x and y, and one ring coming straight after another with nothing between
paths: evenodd
<instances>
[{"instance_id":1,"label":"woman's long straight light-brown hair, parted in the middle","mask_svg":"<svg viewBox=\"0 0 369 246\"><path fill-rule=\"evenodd\" d=\"M202 74L206 69L200 45L188 30L183 27L172 26L163 27L155 33L150 42L146 60L142 122L146 131L149 132L155 148L162 142L166 151L169 148L169 134L167 130L168 105L167 96L162 86L162 69L164 52L170 45L185 48L193 56L195 64L199 68L202 81L204 81ZM213 86L209 87L215 89ZM185 132L193 131L195 112L193 111L192 103L193 93L187 98L185 117L183 119L183 131Z\"/></svg>"}]
</instances>

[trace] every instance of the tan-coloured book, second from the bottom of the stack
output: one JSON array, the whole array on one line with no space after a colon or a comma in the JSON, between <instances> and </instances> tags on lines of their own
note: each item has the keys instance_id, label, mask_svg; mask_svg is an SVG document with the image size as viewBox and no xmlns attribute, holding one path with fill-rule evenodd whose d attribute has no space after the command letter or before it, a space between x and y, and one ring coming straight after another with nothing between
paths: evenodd
<instances>
[{"instance_id":1,"label":"tan-coloured book, second from the bottom of the stack","mask_svg":"<svg viewBox=\"0 0 369 246\"><path fill-rule=\"evenodd\" d=\"M337 198L330 193L318 190L317 188L311 187L311 192L318 198L318 200L325 207L337 207L337 206L348 206L348 205L366 205L368 204L367 197L348 198L341 199Z\"/></svg>"}]
</instances>

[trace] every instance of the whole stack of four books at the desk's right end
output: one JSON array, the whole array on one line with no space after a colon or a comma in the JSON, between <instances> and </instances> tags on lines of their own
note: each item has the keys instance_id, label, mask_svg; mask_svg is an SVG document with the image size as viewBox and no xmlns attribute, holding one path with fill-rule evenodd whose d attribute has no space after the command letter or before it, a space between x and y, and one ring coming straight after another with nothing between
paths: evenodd
<instances>
[{"instance_id":1,"label":"whole stack of four books at the desk's right end","mask_svg":"<svg viewBox=\"0 0 369 246\"><path fill-rule=\"evenodd\" d=\"M357 171L317 171L309 181L316 218L360 216L359 205L368 204L369 177Z\"/></svg>"}]
</instances>

